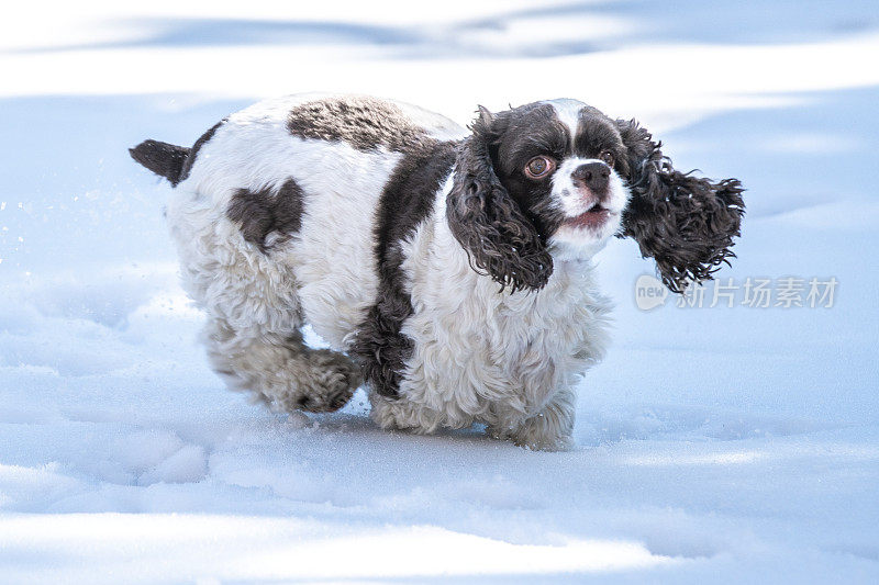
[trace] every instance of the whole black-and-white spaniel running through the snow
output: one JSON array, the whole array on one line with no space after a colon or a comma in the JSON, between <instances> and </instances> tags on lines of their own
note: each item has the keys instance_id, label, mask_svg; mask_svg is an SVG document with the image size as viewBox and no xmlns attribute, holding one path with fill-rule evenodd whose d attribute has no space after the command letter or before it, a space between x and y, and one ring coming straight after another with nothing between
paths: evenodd
<instances>
[{"instance_id":1,"label":"whole black-and-white spaniel running through the snow","mask_svg":"<svg viewBox=\"0 0 879 585\"><path fill-rule=\"evenodd\" d=\"M326 412L366 382L381 427L479 421L541 449L569 443L574 386L607 347L593 256L635 238L680 292L733 256L744 213L737 180L678 172L637 122L575 100L480 108L468 132L293 95L131 154L177 188L183 285L232 387ZM305 346L305 323L333 349Z\"/></svg>"}]
</instances>

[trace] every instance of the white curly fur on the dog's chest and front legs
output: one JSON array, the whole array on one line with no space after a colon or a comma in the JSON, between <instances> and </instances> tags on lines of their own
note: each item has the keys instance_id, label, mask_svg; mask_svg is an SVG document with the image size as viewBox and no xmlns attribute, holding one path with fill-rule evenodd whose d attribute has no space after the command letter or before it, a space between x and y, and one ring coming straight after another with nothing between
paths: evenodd
<instances>
[{"instance_id":1,"label":"white curly fur on the dog's chest and front legs","mask_svg":"<svg viewBox=\"0 0 879 585\"><path fill-rule=\"evenodd\" d=\"M520 445L565 447L571 387L608 344L610 302L597 291L592 262L556 262L541 291L499 294L448 228L449 188L404 247L414 314L402 333L415 341L405 401L372 394L372 418L421 432L479 421Z\"/></svg>"}]
</instances>

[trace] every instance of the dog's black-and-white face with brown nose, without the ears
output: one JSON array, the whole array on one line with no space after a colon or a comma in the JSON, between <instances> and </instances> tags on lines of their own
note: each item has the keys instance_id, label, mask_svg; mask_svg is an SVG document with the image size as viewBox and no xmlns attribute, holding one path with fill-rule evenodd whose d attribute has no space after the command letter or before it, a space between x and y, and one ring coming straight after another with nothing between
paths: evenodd
<instances>
[{"instance_id":1,"label":"dog's black-and-white face with brown nose, without the ears","mask_svg":"<svg viewBox=\"0 0 879 585\"><path fill-rule=\"evenodd\" d=\"M581 102L556 100L492 116L490 125L498 132L489 148L494 171L553 257L600 250L628 202L616 170L626 165L616 124Z\"/></svg>"}]
</instances>

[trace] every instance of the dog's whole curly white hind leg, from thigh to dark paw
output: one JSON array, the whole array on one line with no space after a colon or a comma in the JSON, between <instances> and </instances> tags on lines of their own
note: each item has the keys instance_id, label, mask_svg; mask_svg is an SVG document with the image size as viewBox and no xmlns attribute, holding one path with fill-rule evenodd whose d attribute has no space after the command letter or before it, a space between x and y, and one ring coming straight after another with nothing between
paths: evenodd
<instances>
[{"instance_id":1,"label":"dog's whole curly white hind leg, from thigh to dark paw","mask_svg":"<svg viewBox=\"0 0 879 585\"><path fill-rule=\"evenodd\" d=\"M182 285L208 314L204 342L214 370L234 390L280 410L341 408L360 384L346 356L305 346L297 282L285 250L267 255L204 194L180 191L168 222Z\"/></svg>"}]
</instances>

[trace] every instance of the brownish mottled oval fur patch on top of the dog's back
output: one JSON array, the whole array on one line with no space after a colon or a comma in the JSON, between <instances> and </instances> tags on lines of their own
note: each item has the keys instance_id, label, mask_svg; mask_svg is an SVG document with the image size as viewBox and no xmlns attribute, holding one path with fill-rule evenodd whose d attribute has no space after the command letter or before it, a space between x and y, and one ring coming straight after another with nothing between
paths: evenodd
<instances>
[{"instance_id":1,"label":"brownish mottled oval fur patch on top of the dog's back","mask_svg":"<svg viewBox=\"0 0 879 585\"><path fill-rule=\"evenodd\" d=\"M358 150L383 146L398 153L426 138L424 128L409 121L392 103L375 98L346 97L307 102L287 119L293 136L342 140Z\"/></svg>"}]
</instances>

